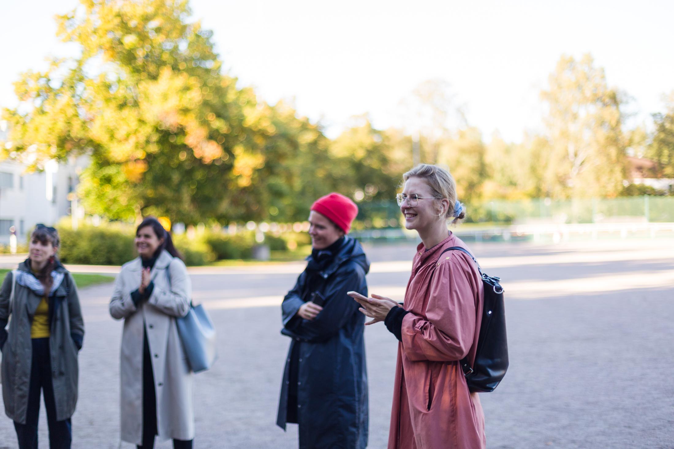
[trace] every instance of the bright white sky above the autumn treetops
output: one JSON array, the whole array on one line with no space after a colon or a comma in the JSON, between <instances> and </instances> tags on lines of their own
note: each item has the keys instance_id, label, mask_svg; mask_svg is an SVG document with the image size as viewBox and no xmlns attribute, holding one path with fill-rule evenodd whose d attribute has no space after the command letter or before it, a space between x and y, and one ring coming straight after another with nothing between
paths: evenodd
<instances>
[{"instance_id":1,"label":"bright white sky above the autumn treetops","mask_svg":"<svg viewBox=\"0 0 674 449\"><path fill-rule=\"evenodd\" d=\"M0 105L12 82L67 55L53 15L77 0L0 0ZM520 0L191 0L214 31L226 69L271 103L294 99L331 137L351 116L400 126L399 102L443 79L489 139L540 127L539 92L563 53L591 53L609 85L632 97L632 124L650 125L674 91L674 2Z\"/></svg>"}]
</instances>

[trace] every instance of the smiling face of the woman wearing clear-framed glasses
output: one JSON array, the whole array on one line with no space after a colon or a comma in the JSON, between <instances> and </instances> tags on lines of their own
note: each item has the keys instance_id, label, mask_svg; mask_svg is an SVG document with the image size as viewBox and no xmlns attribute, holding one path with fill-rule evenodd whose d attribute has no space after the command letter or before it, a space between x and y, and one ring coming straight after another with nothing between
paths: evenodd
<instances>
[{"instance_id":1,"label":"smiling face of the woman wearing clear-framed glasses","mask_svg":"<svg viewBox=\"0 0 674 449\"><path fill-rule=\"evenodd\" d=\"M410 207L407 201L403 201L400 206L400 211L405 217L406 229L423 233L424 230L445 221L444 215L440 217L439 213L441 207L443 207L443 211L447 211L446 203L449 204L449 201L432 199L435 195L433 195L431 187L421 178L408 178L402 193L408 197L416 193L420 197L415 207Z\"/></svg>"}]
</instances>

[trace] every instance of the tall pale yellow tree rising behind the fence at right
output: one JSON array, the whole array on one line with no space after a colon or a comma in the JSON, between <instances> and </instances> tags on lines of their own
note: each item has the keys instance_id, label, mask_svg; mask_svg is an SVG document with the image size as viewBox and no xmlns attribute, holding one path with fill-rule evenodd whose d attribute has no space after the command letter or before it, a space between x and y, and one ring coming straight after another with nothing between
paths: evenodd
<instances>
[{"instance_id":1,"label":"tall pale yellow tree rising behind the fence at right","mask_svg":"<svg viewBox=\"0 0 674 449\"><path fill-rule=\"evenodd\" d=\"M541 93L548 110L545 191L552 197L615 196L625 174L623 100L590 55L563 56Z\"/></svg>"}]
</instances>

